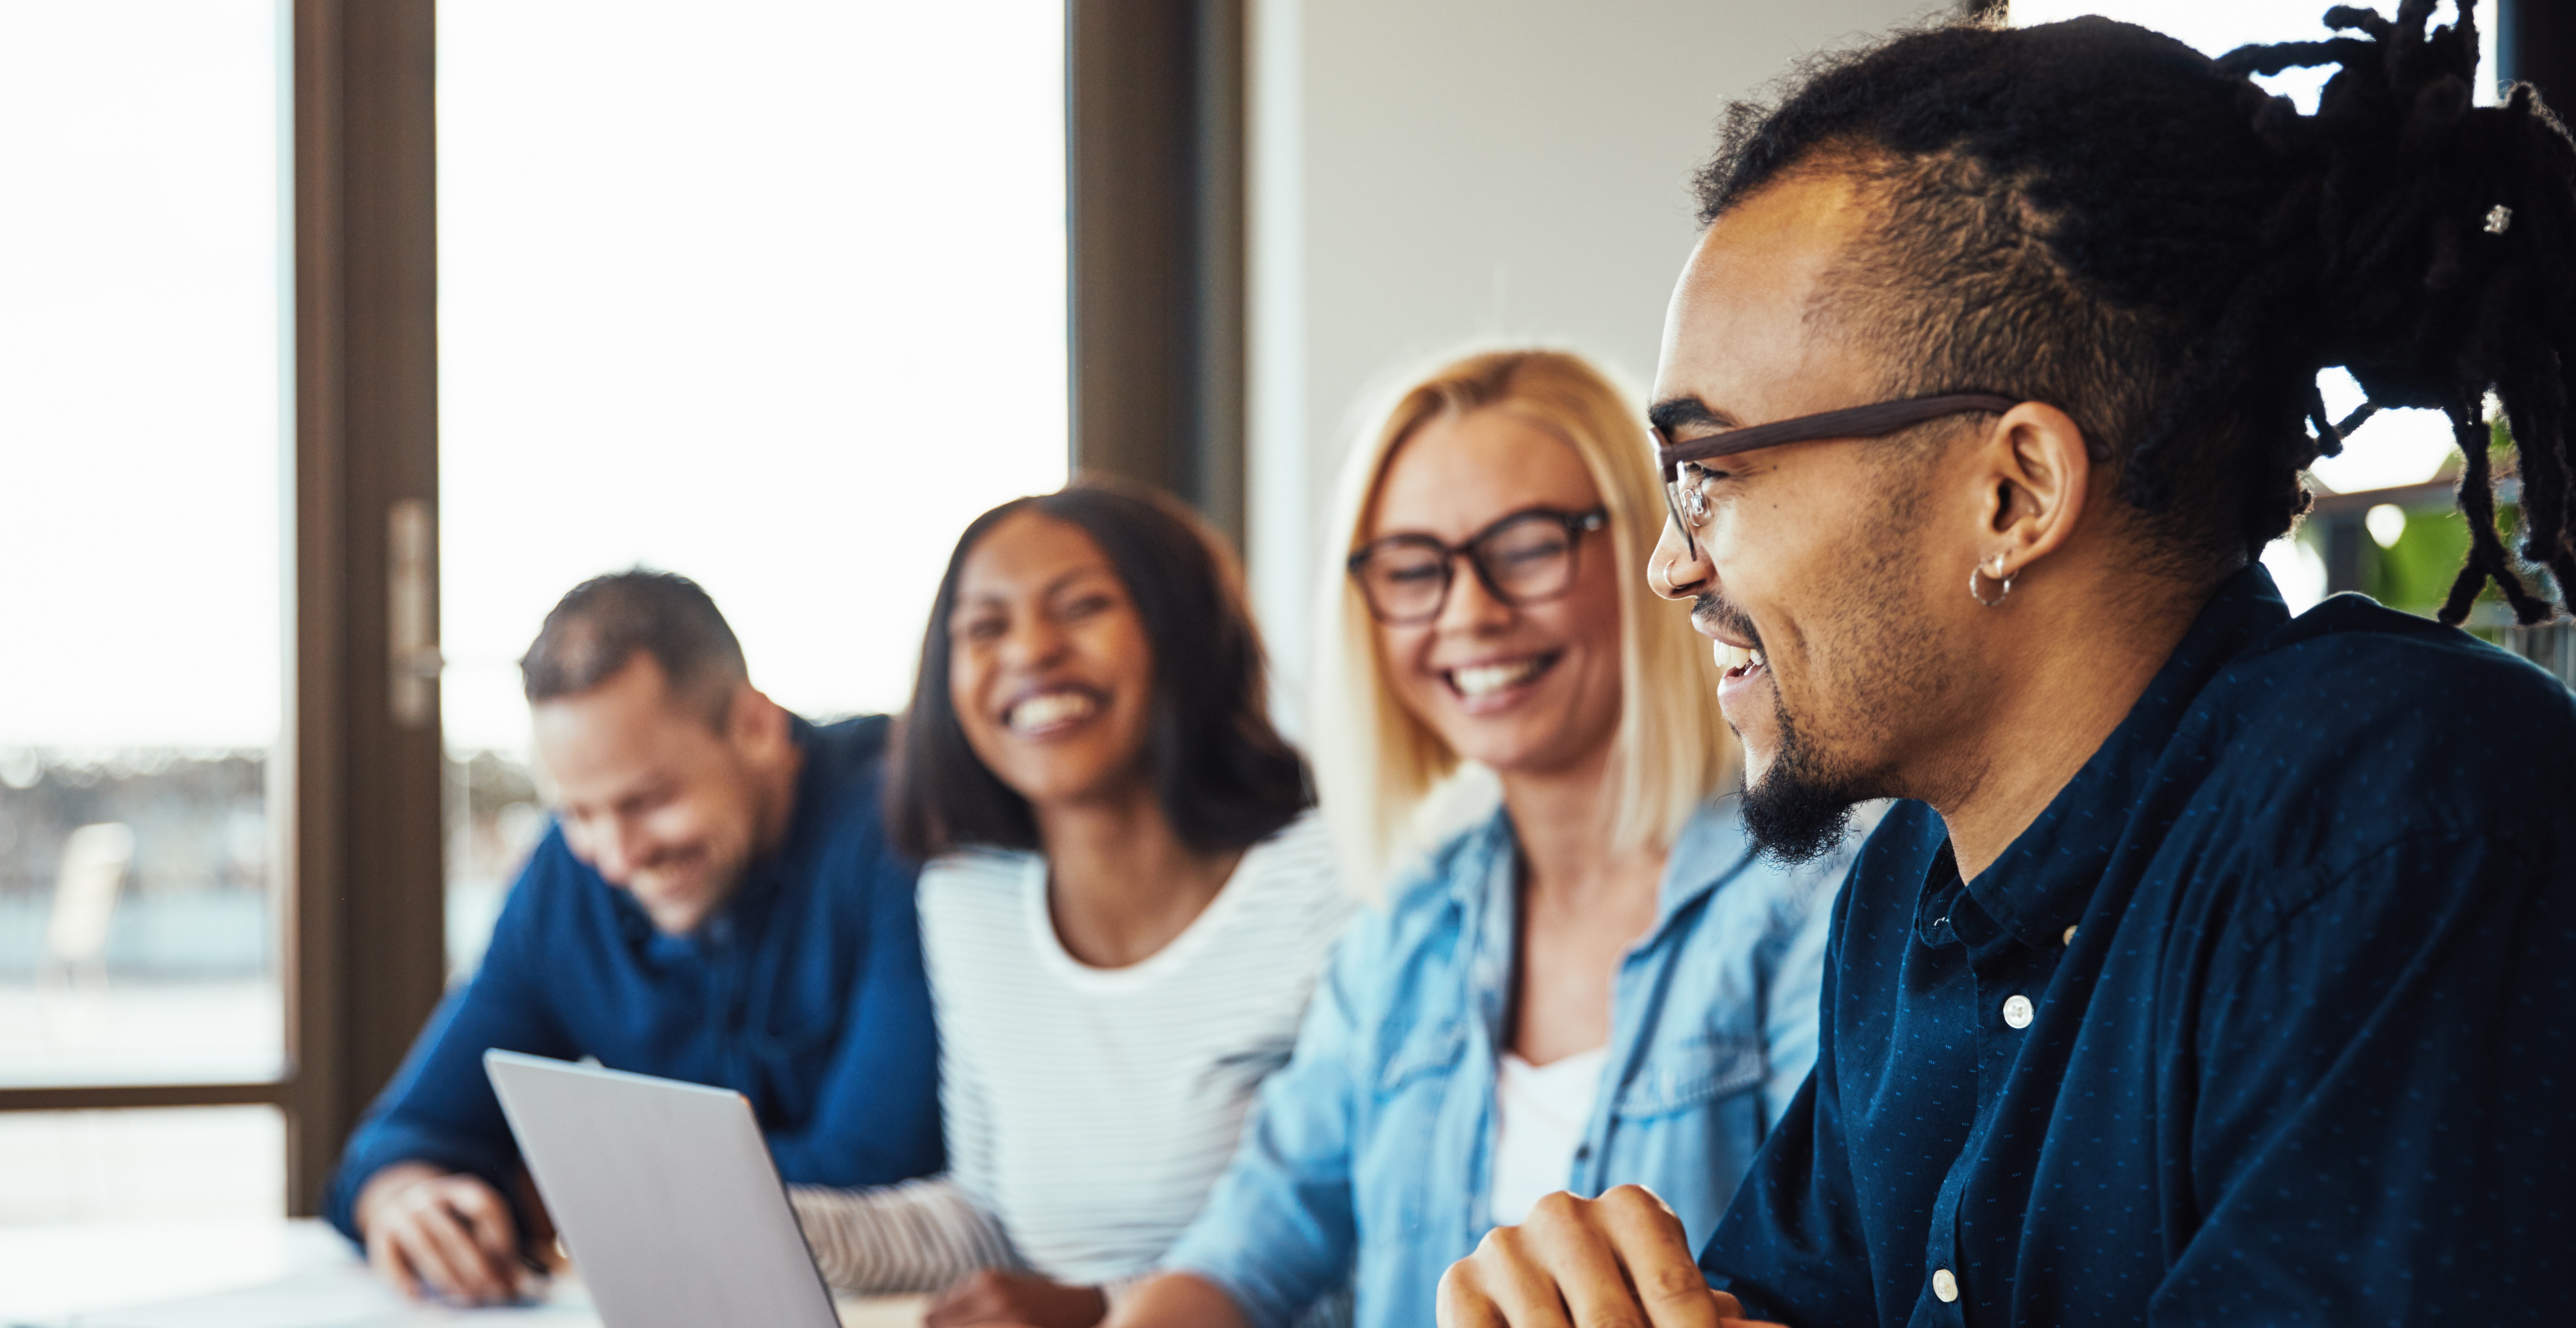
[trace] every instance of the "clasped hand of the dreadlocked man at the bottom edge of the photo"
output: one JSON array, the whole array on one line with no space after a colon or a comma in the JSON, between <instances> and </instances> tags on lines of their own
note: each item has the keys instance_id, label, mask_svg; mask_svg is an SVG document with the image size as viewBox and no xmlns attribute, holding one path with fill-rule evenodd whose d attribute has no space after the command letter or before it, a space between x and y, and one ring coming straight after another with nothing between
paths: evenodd
<instances>
[{"instance_id":1,"label":"clasped hand of the dreadlocked man at the bottom edge of the photo","mask_svg":"<svg viewBox=\"0 0 2576 1328\"><path fill-rule=\"evenodd\" d=\"M1682 1220L1646 1186L1548 1194L1440 1276L1440 1328L1754 1328L1713 1292ZM1777 1325L1770 1325L1777 1328Z\"/></svg>"}]
</instances>

